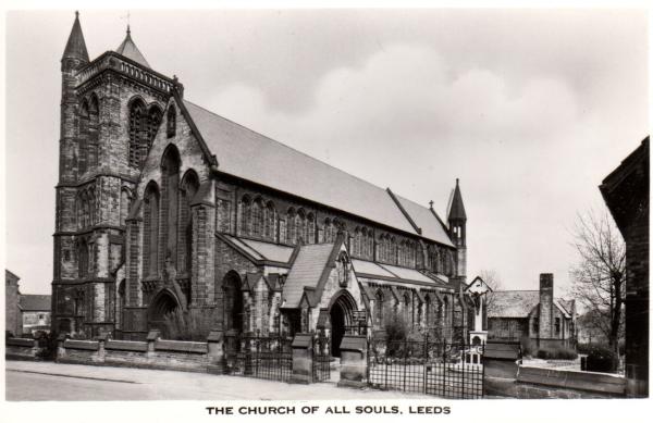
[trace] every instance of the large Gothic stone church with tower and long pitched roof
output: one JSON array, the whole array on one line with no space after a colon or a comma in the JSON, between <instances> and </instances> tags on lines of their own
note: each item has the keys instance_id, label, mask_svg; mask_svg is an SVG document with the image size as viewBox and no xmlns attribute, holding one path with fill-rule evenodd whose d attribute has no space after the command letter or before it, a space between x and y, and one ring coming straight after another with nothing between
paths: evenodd
<instances>
[{"instance_id":1,"label":"large Gothic stone church with tower and long pitched roof","mask_svg":"<svg viewBox=\"0 0 653 423\"><path fill-rule=\"evenodd\" d=\"M342 337L402 319L465 339L467 216L443 221L186 99L127 28L61 60L53 331L141 339L174 310L224 332Z\"/></svg>"}]
</instances>

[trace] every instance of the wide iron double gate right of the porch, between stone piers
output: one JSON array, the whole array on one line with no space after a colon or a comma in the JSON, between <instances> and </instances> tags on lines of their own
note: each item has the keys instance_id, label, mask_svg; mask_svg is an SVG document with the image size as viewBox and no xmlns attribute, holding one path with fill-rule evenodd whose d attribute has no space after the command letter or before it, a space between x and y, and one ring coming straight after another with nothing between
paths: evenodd
<instances>
[{"instance_id":1,"label":"wide iron double gate right of the porch, between stone piers","mask_svg":"<svg viewBox=\"0 0 653 423\"><path fill-rule=\"evenodd\" d=\"M435 395L483 397L482 345L443 340L372 339L368 350L371 387Z\"/></svg>"}]
</instances>

